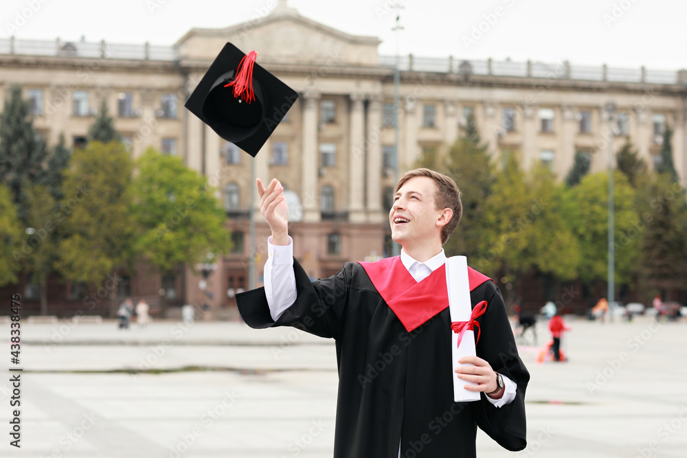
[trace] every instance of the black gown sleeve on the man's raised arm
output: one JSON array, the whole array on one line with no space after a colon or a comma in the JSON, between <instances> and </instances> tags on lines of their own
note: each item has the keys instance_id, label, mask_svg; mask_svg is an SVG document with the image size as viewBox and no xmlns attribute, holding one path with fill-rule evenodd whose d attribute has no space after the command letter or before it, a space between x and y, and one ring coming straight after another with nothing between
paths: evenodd
<instances>
[{"instance_id":1,"label":"black gown sleeve on the man's raised arm","mask_svg":"<svg viewBox=\"0 0 687 458\"><path fill-rule=\"evenodd\" d=\"M251 328L292 326L320 337L339 339L352 271L353 263L347 262L337 275L311 282L294 258L297 297L277 321L269 312L264 287L237 294L238 312Z\"/></svg>"}]
</instances>

